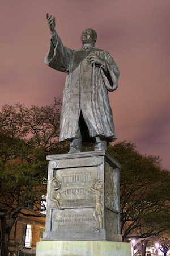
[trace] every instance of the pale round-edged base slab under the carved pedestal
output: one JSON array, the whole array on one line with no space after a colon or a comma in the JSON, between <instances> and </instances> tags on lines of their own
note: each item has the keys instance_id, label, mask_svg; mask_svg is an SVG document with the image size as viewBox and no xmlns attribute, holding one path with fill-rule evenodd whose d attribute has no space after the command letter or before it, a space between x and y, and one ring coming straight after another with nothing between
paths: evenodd
<instances>
[{"instance_id":1,"label":"pale round-edged base slab under the carved pedestal","mask_svg":"<svg viewBox=\"0 0 170 256\"><path fill-rule=\"evenodd\" d=\"M131 256L130 243L110 241L41 241L36 256Z\"/></svg>"}]
</instances>

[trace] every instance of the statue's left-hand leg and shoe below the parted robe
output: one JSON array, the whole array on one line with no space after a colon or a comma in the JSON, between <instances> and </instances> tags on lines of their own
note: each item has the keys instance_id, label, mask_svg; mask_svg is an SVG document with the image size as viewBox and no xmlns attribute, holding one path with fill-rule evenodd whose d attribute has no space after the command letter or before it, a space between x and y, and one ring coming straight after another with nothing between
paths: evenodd
<instances>
[{"instance_id":1,"label":"statue's left-hand leg and shoe below the parted robe","mask_svg":"<svg viewBox=\"0 0 170 256\"><path fill-rule=\"evenodd\" d=\"M81 134L81 131L80 131L80 126L78 124L78 129L77 129L77 132L76 132L76 136L70 142L69 153L81 152L81 147L82 147L82 134Z\"/></svg>"}]
</instances>

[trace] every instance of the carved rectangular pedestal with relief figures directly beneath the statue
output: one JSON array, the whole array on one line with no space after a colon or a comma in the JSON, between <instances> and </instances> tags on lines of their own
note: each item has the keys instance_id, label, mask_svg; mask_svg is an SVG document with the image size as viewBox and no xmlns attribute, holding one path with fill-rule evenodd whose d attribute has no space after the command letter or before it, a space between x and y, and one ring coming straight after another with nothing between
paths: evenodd
<instances>
[{"instance_id":1,"label":"carved rectangular pedestal with relief figures directly beneath the statue","mask_svg":"<svg viewBox=\"0 0 170 256\"><path fill-rule=\"evenodd\" d=\"M42 241L121 242L120 163L105 151L49 155L47 160Z\"/></svg>"}]
</instances>

